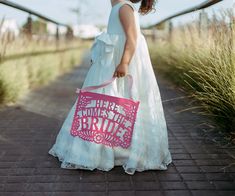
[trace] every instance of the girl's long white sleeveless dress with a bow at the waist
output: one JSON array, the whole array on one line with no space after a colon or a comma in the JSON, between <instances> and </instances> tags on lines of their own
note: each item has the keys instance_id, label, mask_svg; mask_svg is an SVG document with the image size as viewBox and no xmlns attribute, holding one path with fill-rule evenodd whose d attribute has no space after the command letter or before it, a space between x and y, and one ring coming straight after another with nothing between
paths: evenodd
<instances>
[{"instance_id":1,"label":"girl's long white sleeveless dress with a bow at the waist","mask_svg":"<svg viewBox=\"0 0 235 196\"><path fill-rule=\"evenodd\" d=\"M139 14L132 2L115 4L109 16L107 32L96 36L90 49L93 64L83 87L101 84L110 79L119 64L125 45L125 32L119 19L119 9L128 4L134 9L138 30L136 51L129 64L133 76L133 99L140 101L129 148L109 147L73 137L70 134L75 101L49 154L58 157L61 168L99 169L109 171L121 165L128 174L144 170L166 170L172 162L168 149L168 133L158 84L153 72L145 37L140 31ZM93 92L128 97L127 78L117 78L112 84Z\"/></svg>"}]
</instances>

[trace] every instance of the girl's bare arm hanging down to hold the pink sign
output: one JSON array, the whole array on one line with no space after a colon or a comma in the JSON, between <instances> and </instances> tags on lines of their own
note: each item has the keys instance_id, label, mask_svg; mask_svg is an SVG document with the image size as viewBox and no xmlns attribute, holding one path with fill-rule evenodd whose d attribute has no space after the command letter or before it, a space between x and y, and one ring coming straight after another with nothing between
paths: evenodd
<instances>
[{"instance_id":1,"label":"girl's bare arm hanging down to hold the pink sign","mask_svg":"<svg viewBox=\"0 0 235 196\"><path fill-rule=\"evenodd\" d=\"M113 76L123 77L128 72L128 65L135 52L137 41L137 29L135 24L134 10L125 4L119 10L119 18L126 34L124 52L120 64L117 66Z\"/></svg>"}]
</instances>

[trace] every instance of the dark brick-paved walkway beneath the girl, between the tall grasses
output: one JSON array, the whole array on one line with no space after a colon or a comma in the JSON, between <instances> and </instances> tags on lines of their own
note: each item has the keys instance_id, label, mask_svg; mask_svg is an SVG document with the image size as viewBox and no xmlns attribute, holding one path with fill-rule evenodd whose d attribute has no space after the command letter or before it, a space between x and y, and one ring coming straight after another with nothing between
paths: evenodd
<instances>
[{"instance_id":1,"label":"dark brick-paved walkway beneath the girl, between the tall grasses","mask_svg":"<svg viewBox=\"0 0 235 196\"><path fill-rule=\"evenodd\" d=\"M0 195L48 196L234 196L235 147L217 146L204 136L203 119L185 109L189 99L157 76L173 163L167 171L124 173L66 170L48 154L88 70L88 56L72 72L35 89L16 106L0 110ZM224 169L223 169L224 168Z\"/></svg>"}]
</instances>

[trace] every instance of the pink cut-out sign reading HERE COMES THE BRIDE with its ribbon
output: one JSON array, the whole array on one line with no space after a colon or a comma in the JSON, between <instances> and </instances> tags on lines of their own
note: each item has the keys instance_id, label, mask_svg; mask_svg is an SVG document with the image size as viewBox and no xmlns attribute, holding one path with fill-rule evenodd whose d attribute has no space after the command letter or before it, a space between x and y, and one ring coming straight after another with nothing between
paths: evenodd
<instances>
[{"instance_id":1,"label":"pink cut-out sign reading HERE COMES THE BRIDE with its ribbon","mask_svg":"<svg viewBox=\"0 0 235 196\"><path fill-rule=\"evenodd\" d=\"M78 89L78 100L70 130L72 136L110 147L130 146L140 102L132 98L89 92L108 85L114 79L115 77L99 86Z\"/></svg>"}]
</instances>

